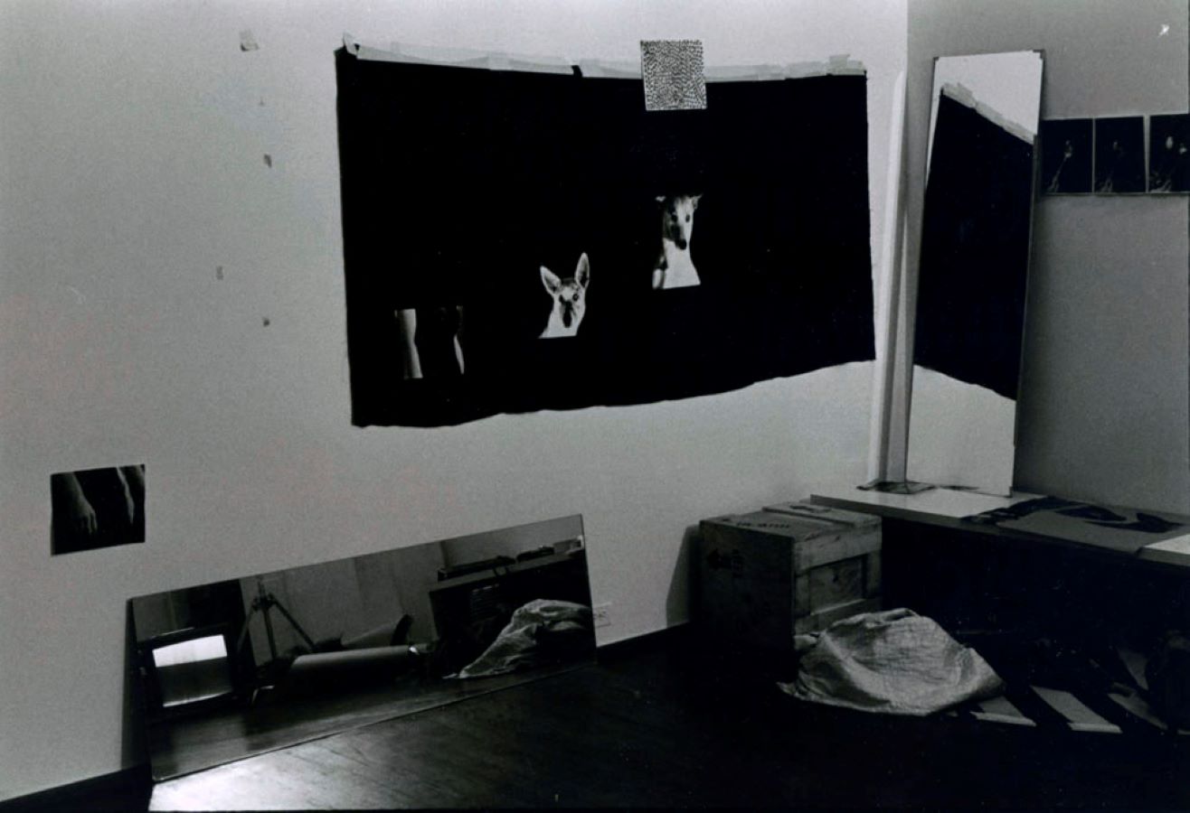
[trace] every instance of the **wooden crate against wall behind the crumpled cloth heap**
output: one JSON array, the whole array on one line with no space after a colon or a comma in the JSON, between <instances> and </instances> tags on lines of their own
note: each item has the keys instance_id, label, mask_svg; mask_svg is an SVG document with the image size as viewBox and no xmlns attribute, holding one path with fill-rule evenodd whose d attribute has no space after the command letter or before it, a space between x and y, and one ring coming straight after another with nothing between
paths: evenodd
<instances>
[{"instance_id":1,"label":"wooden crate against wall behind the crumpled cloth heap","mask_svg":"<svg viewBox=\"0 0 1190 813\"><path fill-rule=\"evenodd\" d=\"M716 638L772 649L881 607L881 521L808 503L700 523L695 619Z\"/></svg>"}]
</instances>

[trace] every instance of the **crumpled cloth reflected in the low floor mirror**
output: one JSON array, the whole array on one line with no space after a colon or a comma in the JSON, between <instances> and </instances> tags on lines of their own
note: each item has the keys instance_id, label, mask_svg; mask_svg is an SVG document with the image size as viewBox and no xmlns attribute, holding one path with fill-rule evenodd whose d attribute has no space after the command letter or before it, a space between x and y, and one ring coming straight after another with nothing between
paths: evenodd
<instances>
[{"instance_id":1,"label":"crumpled cloth reflected in the low floor mirror","mask_svg":"<svg viewBox=\"0 0 1190 813\"><path fill-rule=\"evenodd\" d=\"M516 607L508 624L459 678L502 675L549 662L583 642L591 632L591 609L572 601L534 599ZM594 645L594 642L590 641Z\"/></svg>"}]
</instances>

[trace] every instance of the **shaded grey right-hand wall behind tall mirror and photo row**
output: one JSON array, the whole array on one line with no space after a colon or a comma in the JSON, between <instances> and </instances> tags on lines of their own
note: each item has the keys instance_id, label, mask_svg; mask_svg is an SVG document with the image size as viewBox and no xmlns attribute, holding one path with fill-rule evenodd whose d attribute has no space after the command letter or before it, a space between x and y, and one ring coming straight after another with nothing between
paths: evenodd
<instances>
[{"instance_id":1,"label":"shaded grey right-hand wall behind tall mirror and photo row","mask_svg":"<svg viewBox=\"0 0 1190 813\"><path fill-rule=\"evenodd\" d=\"M1180 113L1190 103L1188 21L1186 0L909 0L907 284L934 57L1044 50L1042 119ZM1039 201L1017 487L1190 511L1188 223L1184 196ZM912 329L903 316L902 349ZM902 355L902 386L904 370ZM903 408L894 409L902 433ZM895 469L903 434L891 449Z\"/></svg>"}]
</instances>

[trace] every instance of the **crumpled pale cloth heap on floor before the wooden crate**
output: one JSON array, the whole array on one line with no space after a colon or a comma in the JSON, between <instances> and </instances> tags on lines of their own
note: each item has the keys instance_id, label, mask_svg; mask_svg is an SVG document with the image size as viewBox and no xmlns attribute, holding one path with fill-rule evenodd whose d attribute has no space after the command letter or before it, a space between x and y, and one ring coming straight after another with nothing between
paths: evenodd
<instances>
[{"instance_id":1,"label":"crumpled pale cloth heap on floor before the wooden crate","mask_svg":"<svg viewBox=\"0 0 1190 813\"><path fill-rule=\"evenodd\" d=\"M1004 689L977 651L904 609L835 622L802 656L797 679L779 686L812 702L916 716Z\"/></svg>"}]
</instances>

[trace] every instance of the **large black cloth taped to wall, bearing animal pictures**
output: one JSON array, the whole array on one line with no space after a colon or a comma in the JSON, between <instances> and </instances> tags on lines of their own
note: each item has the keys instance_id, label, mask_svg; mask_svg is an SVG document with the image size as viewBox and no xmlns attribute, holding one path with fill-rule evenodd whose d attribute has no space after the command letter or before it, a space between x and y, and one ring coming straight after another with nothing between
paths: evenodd
<instances>
[{"instance_id":1,"label":"large black cloth taped to wall, bearing animal pictures","mask_svg":"<svg viewBox=\"0 0 1190 813\"><path fill-rule=\"evenodd\" d=\"M866 77L710 83L704 111L647 113L639 80L337 57L355 424L873 358ZM663 276L699 284L654 288L664 234L684 250Z\"/></svg>"}]
</instances>

